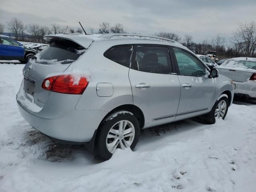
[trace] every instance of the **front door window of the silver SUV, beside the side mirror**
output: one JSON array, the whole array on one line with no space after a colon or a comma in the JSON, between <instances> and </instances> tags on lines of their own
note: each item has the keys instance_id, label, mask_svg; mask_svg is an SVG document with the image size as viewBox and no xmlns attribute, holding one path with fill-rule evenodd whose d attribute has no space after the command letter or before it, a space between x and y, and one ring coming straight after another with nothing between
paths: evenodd
<instances>
[{"instance_id":1,"label":"front door window of the silver SUV, beside the side mirror","mask_svg":"<svg viewBox=\"0 0 256 192\"><path fill-rule=\"evenodd\" d=\"M191 54L174 48L180 74L184 76L205 76L205 66Z\"/></svg>"}]
</instances>

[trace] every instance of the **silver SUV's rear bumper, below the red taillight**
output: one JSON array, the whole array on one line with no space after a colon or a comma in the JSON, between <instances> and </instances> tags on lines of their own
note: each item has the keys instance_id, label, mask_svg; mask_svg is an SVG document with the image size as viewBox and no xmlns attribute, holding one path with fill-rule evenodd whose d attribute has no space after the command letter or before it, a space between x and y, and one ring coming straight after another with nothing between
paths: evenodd
<instances>
[{"instance_id":1,"label":"silver SUV's rear bumper, below the red taillight","mask_svg":"<svg viewBox=\"0 0 256 192\"><path fill-rule=\"evenodd\" d=\"M41 112L33 113L17 101L23 118L36 130L50 138L67 142L89 142L107 112L100 110L72 110L58 118L42 117ZM51 113L49 111L49 113ZM61 112L60 112L61 113ZM41 116L42 115L42 116Z\"/></svg>"}]
</instances>

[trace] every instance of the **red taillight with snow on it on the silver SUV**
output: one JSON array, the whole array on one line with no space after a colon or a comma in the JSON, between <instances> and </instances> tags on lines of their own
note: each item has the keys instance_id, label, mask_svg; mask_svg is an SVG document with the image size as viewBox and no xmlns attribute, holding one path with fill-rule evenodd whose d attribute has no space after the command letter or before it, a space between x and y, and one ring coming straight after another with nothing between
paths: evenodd
<instances>
[{"instance_id":1,"label":"red taillight with snow on it on the silver SUV","mask_svg":"<svg viewBox=\"0 0 256 192\"><path fill-rule=\"evenodd\" d=\"M42 88L58 93L83 94L87 85L88 81L85 77L59 75L46 78L42 83Z\"/></svg>"}]
</instances>

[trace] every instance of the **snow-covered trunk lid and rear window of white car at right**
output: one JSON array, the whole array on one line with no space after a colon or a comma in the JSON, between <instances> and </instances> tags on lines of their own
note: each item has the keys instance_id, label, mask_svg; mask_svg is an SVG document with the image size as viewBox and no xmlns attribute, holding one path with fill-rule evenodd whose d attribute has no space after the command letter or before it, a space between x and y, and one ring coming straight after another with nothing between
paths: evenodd
<instances>
[{"instance_id":1,"label":"snow-covered trunk lid and rear window of white car at right","mask_svg":"<svg viewBox=\"0 0 256 192\"><path fill-rule=\"evenodd\" d=\"M246 82L253 73L256 62L246 60L227 60L221 66L218 66L219 73L227 76L233 81Z\"/></svg>"}]
</instances>

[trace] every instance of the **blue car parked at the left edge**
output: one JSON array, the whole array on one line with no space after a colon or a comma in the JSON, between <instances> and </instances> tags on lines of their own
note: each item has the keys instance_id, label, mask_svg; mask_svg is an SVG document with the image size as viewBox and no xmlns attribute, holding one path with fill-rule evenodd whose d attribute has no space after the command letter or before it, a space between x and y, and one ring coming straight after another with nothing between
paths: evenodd
<instances>
[{"instance_id":1,"label":"blue car parked at the left edge","mask_svg":"<svg viewBox=\"0 0 256 192\"><path fill-rule=\"evenodd\" d=\"M8 36L0 35L0 60L19 60L21 63L27 63L36 53L36 50L27 48Z\"/></svg>"}]
</instances>

